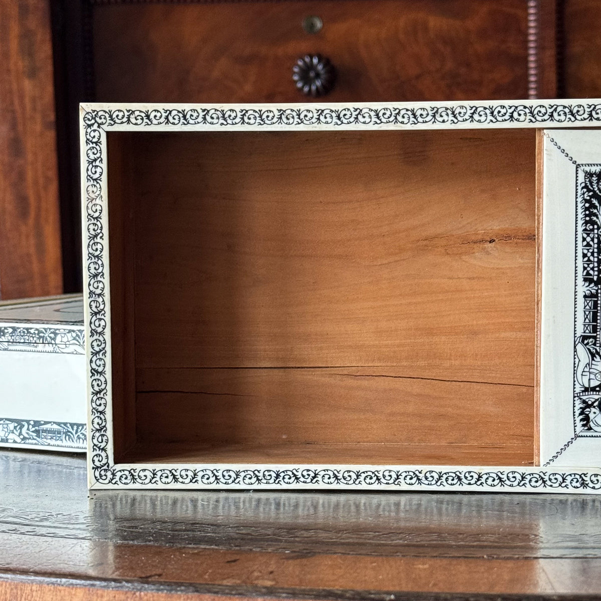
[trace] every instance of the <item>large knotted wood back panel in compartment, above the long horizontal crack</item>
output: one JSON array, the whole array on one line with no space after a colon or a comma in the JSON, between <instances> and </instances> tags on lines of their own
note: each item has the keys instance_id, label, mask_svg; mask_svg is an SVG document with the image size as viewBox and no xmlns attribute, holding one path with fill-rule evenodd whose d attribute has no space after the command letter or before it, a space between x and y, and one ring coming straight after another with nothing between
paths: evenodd
<instances>
[{"instance_id":1,"label":"large knotted wood back panel in compartment, above the long horizontal crack","mask_svg":"<svg viewBox=\"0 0 601 601\"><path fill-rule=\"evenodd\" d=\"M459 367L450 379L532 385L534 132L143 140L128 159L138 367Z\"/></svg>"}]
</instances>

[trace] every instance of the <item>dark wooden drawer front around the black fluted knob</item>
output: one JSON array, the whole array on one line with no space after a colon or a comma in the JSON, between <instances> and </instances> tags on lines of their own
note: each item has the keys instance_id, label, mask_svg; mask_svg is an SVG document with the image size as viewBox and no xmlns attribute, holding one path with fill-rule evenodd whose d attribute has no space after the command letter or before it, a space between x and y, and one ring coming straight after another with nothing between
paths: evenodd
<instances>
[{"instance_id":1,"label":"dark wooden drawer front around the black fluted knob","mask_svg":"<svg viewBox=\"0 0 601 601\"><path fill-rule=\"evenodd\" d=\"M291 69L307 53L321 53L336 67L337 84L325 96L332 102L524 98L533 94L533 70L544 62L532 58L531 37L529 88L528 35L536 32L532 19L538 13L528 5L532 2L98 2L96 99L299 102L305 97L294 87ZM323 22L315 34L303 28L312 15ZM540 97L554 93L538 90Z\"/></svg>"}]
</instances>

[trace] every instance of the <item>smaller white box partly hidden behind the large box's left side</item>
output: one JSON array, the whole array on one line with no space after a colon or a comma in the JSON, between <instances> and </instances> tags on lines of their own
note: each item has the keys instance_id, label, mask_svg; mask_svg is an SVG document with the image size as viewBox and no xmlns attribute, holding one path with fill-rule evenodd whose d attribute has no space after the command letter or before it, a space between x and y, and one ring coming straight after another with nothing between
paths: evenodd
<instances>
[{"instance_id":1,"label":"smaller white box partly hidden behind the large box's left side","mask_svg":"<svg viewBox=\"0 0 601 601\"><path fill-rule=\"evenodd\" d=\"M0 447L85 451L81 294L0 302Z\"/></svg>"}]
</instances>

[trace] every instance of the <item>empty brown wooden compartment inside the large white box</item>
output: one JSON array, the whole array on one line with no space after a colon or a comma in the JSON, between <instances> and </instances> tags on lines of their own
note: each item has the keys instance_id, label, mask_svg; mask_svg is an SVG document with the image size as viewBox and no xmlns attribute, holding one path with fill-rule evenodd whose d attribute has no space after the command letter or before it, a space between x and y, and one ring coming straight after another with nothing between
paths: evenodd
<instances>
[{"instance_id":1,"label":"empty brown wooden compartment inside the large white box","mask_svg":"<svg viewBox=\"0 0 601 601\"><path fill-rule=\"evenodd\" d=\"M108 132L116 463L532 465L536 132Z\"/></svg>"}]
</instances>

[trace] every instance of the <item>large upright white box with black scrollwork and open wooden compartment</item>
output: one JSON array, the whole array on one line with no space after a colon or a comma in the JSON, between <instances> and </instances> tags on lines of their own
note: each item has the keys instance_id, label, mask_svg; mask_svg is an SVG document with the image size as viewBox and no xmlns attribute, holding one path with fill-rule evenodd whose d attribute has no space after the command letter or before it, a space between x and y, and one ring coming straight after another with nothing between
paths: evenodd
<instances>
[{"instance_id":1,"label":"large upright white box with black scrollwork and open wooden compartment","mask_svg":"<svg viewBox=\"0 0 601 601\"><path fill-rule=\"evenodd\" d=\"M82 105L90 486L600 489L599 102Z\"/></svg>"}]
</instances>

